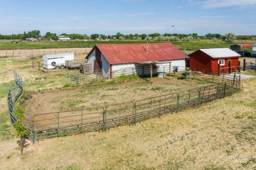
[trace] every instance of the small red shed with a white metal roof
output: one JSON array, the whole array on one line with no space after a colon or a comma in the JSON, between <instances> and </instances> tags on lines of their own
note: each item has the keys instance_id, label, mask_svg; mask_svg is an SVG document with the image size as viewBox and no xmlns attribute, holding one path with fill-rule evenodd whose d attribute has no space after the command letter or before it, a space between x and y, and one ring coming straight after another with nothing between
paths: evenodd
<instances>
[{"instance_id":1,"label":"small red shed with a white metal roof","mask_svg":"<svg viewBox=\"0 0 256 170\"><path fill-rule=\"evenodd\" d=\"M206 74L218 73L218 63L220 73L228 73L228 61L230 61L231 71L238 71L238 61L240 54L229 48L209 48L200 49L190 54L190 70L203 71Z\"/></svg>"}]
</instances>

